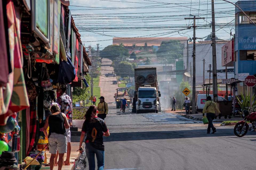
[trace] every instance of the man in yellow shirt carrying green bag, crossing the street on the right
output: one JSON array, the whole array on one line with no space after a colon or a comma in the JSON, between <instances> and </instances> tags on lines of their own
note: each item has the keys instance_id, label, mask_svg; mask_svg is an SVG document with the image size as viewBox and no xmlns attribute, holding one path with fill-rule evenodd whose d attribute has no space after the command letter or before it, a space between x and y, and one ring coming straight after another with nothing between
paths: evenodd
<instances>
[{"instance_id":1,"label":"man in yellow shirt carrying green bag, crossing the street on the right","mask_svg":"<svg viewBox=\"0 0 256 170\"><path fill-rule=\"evenodd\" d=\"M212 133L216 132L216 128L213 126L213 120L215 118L215 113L221 113L217 104L211 100L211 96L206 97L205 107L203 108L203 116L206 113L206 117L209 121L207 133L210 133L211 129L213 130Z\"/></svg>"}]
</instances>

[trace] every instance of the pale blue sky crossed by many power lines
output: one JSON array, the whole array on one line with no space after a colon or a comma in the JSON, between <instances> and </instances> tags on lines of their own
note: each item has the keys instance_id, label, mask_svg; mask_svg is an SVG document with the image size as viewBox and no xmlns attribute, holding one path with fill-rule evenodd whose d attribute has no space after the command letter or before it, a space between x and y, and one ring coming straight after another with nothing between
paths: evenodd
<instances>
[{"instance_id":1,"label":"pale blue sky crossed by many power lines","mask_svg":"<svg viewBox=\"0 0 256 170\"><path fill-rule=\"evenodd\" d=\"M235 32L235 7L214 2L216 36L229 40ZM193 20L184 18L193 15L205 18L196 20L196 37L205 39L212 30L211 0L70 0L69 9L83 44L99 44L100 50L113 37L192 38Z\"/></svg>"}]
</instances>

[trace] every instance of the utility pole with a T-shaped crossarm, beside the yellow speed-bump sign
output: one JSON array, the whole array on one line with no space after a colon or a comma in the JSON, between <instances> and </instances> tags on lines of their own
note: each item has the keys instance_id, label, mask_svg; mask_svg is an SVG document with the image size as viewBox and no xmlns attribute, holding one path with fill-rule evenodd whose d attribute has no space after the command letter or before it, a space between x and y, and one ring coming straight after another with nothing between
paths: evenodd
<instances>
[{"instance_id":1,"label":"utility pole with a T-shaped crossarm, beside the yellow speed-bump sign","mask_svg":"<svg viewBox=\"0 0 256 170\"><path fill-rule=\"evenodd\" d=\"M195 108L195 40L197 39L195 37L195 20L196 19L205 19L205 18L196 18L195 16L193 18L185 18L185 19L193 19L193 80L192 80L192 113L195 114L196 108Z\"/></svg>"}]
</instances>

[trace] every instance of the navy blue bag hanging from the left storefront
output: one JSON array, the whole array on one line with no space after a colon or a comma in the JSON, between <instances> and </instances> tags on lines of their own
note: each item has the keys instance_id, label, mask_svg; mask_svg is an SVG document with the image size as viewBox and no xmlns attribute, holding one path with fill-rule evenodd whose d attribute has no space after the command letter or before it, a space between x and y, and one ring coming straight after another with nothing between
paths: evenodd
<instances>
[{"instance_id":1,"label":"navy blue bag hanging from the left storefront","mask_svg":"<svg viewBox=\"0 0 256 170\"><path fill-rule=\"evenodd\" d=\"M70 61L69 57L67 57L67 61L59 61L58 82L60 84L67 85L71 83L75 79L75 75L75 67L73 63Z\"/></svg>"}]
</instances>

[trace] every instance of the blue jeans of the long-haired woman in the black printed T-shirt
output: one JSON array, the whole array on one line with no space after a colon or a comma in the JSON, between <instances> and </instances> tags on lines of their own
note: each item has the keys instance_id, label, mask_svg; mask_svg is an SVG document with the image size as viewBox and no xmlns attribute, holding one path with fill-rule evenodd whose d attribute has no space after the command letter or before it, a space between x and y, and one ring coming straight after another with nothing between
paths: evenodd
<instances>
[{"instance_id":1,"label":"blue jeans of the long-haired woman in the black printed T-shirt","mask_svg":"<svg viewBox=\"0 0 256 170\"><path fill-rule=\"evenodd\" d=\"M86 143L85 152L89 163L89 170L95 170L95 155L97 158L97 170L104 169L104 151L94 148L90 143Z\"/></svg>"}]
</instances>

